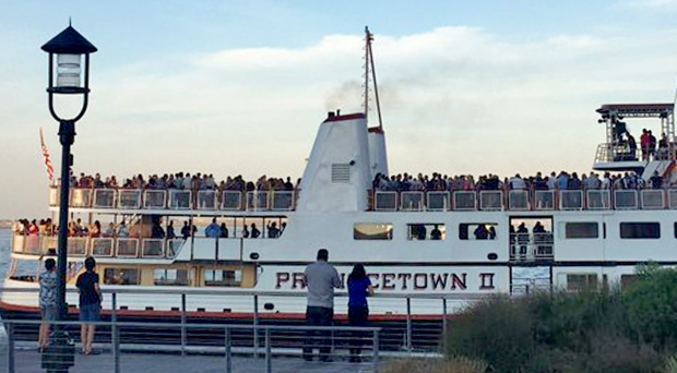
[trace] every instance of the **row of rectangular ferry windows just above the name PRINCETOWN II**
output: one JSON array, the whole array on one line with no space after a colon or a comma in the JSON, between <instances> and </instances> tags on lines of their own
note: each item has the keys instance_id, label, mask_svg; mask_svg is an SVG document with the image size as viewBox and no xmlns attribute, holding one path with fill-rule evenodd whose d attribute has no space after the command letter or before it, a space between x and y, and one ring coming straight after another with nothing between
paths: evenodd
<instances>
[{"instance_id":1,"label":"row of rectangular ferry windows just above the name PRINCETOWN II","mask_svg":"<svg viewBox=\"0 0 677 373\"><path fill-rule=\"evenodd\" d=\"M459 240L495 240L497 228L498 224L496 222L462 222L459 225ZM606 225L603 228L603 237L606 238ZM677 238L677 222L675 222L674 230L675 238ZM660 239L661 224L657 221L620 222L619 232L621 239ZM448 229L444 224L407 224L407 240L446 240L447 233ZM545 231L538 233L550 234ZM520 232L512 234L519 237ZM353 227L353 238L355 240L392 240L393 225L390 222L358 222ZM567 221L565 222L565 238L599 238L599 224L597 221Z\"/></svg>"}]
</instances>

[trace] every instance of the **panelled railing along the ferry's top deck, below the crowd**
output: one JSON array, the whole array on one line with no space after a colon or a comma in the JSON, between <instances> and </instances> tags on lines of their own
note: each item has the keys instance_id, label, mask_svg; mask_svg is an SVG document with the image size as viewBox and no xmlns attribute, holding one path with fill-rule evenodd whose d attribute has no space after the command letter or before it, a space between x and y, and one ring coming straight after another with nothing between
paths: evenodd
<instances>
[{"instance_id":1,"label":"panelled railing along the ferry's top deck, below the crowd","mask_svg":"<svg viewBox=\"0 0 677 373\"><path fill-rule=\"evenodd\" d=\"M667 186L667 185L666 185ZM51 189L50 206L59 193ZM81 189L70 206L110 214L266 216L295 210L298 191ZM368 212L677 209L677 189L512 189L369 191Z\"/></svg>"}]
</instances>

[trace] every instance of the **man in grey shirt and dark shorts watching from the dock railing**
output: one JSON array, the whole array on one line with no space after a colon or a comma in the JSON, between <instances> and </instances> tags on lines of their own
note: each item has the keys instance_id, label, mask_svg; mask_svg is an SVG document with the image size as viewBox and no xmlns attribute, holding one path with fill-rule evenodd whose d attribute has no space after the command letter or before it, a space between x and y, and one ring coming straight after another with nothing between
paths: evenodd
<instances>
[{"instance_id":1,"label":"man in grey shirt and dark shorts watching from the dock railing","mask_svg":"<svg viewBox=\"0 0 677 373\"><path fill-rule=\"evenodd\" d=\"M326 249L318 250L318 261L309 264L304 273L308 287L306 324L308 326L332 326L334 318L334 288L341 287L339 273L333 265L326 263ZM331 361L331 341L326 330L309 329L304 344L304 359L312 361L312 348L320 348L320 361Z\"/></svg>"}]
</instances>

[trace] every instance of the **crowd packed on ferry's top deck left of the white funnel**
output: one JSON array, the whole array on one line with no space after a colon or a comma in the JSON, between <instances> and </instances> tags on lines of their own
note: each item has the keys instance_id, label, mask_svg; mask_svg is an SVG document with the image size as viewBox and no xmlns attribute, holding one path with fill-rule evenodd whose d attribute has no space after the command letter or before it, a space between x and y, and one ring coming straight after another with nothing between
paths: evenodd
<instances>
[{"instance_id":1,"label":"crowd packed on ferry's top deck left of the white funnel","mask_svg":"<svg viewBox=\"0 0 677 373\"><path fill-rule=\"evenodd\" d=\"M292 178L269 178L265 175L260 177L256 182L247 181L242 176L227 177L221 182L214 179L212 173L193 173L177 172L165 173L162 177L157 175L147 176L139 173L130 179L124 179L121 183L115 176L102 178L99 173L94 176L80 173L78 177L71 172L69 185L71 188L83 189L139 189L139 190L189 190L189 191L203 191L203 190L218 190L218 191L294 191L299 183L292 182Z\"/></svg>"}]
</instances>

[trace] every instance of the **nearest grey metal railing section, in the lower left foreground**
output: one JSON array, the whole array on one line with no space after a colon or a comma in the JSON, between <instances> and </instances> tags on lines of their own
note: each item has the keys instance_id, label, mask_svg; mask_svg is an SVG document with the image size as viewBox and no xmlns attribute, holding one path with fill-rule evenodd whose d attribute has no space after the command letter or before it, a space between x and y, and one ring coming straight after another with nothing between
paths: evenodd
<instances>
[{"instance_id":1,"label":"nearest grey metal railing section, in the lower left foreground","mask_svg":"<svg viewBox=\"0 0 677 373\"><path fill-rule=\"evenodd\" d=\"M8 373L15 373L19 370L38 372L41 369L56 372L83 363L82 360L74 358L75 340L80 336L79 322L50 322L52 327L59 327L66 335L54 333L50 336L51 345L40 352L33 352L35 350L25 352L17 349L25 340L35 340L40 321L3 320L3 323L8 334L5 351ZM288 365L288 359L275 360L275 358L298 354L306 346L328 349L328 353L323 356L328 362L320 364L330 362L333 365L349 364L360 372L377 372L379 366L380 328L378 327L130 323L119 322L115 317L109 322L90 324L96 327L93 351L97 356L93 358L96 359L98 372L120 373L124 372L124 366L130 365L134 366L132 371L139 371L140 366L133 363L140 356L139 352L146 352L141 365L152 364L155 371L187 371L191 364L192 368L194 364L200 364L202 370L218 370L226 373L235 372L237 370L234 368L244 364L248 369L256 368L259 372L288 371L285 366ZM57 340L57 335L63 338ZM171 345L173 337L183 335L188 337L180 349ZM253 340L251 336L254 335L259 335L260 338ZM141 346L139 338L143 338L146 346ZM152 347L149 348L147 345ZM348 350L355 348L360 349L359 361L348 360L351 357ZM157 353L178 351L182 353L179 359ZM214 361L202 357L195 361L191 352L222 356L223 360Z\"/></svg>"}]
</instances>

